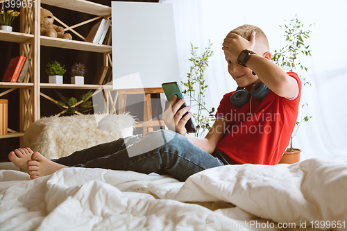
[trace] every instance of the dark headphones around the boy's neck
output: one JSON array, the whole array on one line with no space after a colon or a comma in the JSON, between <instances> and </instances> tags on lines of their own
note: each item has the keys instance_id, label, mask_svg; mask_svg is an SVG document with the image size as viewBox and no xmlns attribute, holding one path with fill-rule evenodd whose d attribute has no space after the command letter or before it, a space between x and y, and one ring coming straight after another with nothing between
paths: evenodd
<instances>
[{"instance_id":1,"label":"dark headphones around the boy's neck","mask_svg":"<svg viewBox=\"0 0 347 231\"><path fill-rule=\"evenodd\" d=\"M242 108L243 105L248 103L251 96L253 99L260 101L269 93L269 91L269 87L266 87L262 82L255 84L252 87L251 92L247 92L244 87L237 87L236 92L230 96L230 101L235 107Z\"/></svg>"}]
</instances>

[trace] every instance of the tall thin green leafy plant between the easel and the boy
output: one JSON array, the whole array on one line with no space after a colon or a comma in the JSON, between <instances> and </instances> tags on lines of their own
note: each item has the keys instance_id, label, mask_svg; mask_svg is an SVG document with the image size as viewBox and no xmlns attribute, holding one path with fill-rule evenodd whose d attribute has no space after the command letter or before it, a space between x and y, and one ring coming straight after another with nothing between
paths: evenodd
<instances>
[{"instance_id":1,"label":"tall thin green leafy plant between the easel and the boy","mask_svg":"<svg viewBox=\"0 0 347 231\"><path fill-rule=\"evenodd\" d=\"M196 123L196 137L204 135L206 130L210 130L210 121L214 120L214 108L210 110L205 107L205 92L208 85L205 84L204 71L208 67L208 58L213 54L211 51L212 43L208 41L208 47L205 48L203 54L199 57L196 54L198 47L192 46L192 58L189 61L192 62L190 71L187 74L187 82L182 84L187 87L183 90L185 98L188 98L189 105L192 107L193 119Z\"/></svg>"}]
</instances>

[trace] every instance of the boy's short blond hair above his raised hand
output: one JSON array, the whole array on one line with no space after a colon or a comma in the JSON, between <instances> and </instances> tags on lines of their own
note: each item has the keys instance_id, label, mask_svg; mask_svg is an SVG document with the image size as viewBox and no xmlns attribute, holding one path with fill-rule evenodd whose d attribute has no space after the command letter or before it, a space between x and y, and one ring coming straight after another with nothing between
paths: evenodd
<instances>
[{"instance_id":1,"label":"boy's short blond hair above his raised hand","mask_svg":"<svg viewBox=\"0 0 347 231\"><path fill-rule=\"evenodd\" d=\"M259 55L262 55L266 51L270 50L269 41L267 40L267 37L265 33L262 31L262 29L260 29L257 26L245 24L243 26L239 26L235 28L234 30L230 31L230 33L235 33L237 35L240 35L241 37L249 41L251 37L251 33L253 33L253 31L255 31L255 41L256 41L254 52Z\"/></svg>"}]
</instances>

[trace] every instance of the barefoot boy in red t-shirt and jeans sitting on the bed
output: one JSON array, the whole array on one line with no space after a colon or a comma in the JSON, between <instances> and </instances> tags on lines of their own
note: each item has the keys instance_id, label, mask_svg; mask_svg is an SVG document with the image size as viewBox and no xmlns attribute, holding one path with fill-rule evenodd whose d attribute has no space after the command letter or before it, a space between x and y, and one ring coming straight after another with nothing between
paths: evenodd
<instances>
[{"instance_id":1,"label":"barefoot boy in red t-shirt and jeans sitting on the bed","mask_svg":"<svg viewBox=\"0 0 347 231\"><path fill-rule=\"evenodd\" d=\"M230 102L234 92L225 94L216 121L205 138L187 134L185 123L192 114L180 118L190 107L178 111L184 99L175 103L177 96L174 96L162 116L170 130L100 144L53 161L30 148L19 148L9 154L10 160L16 166L27 168L31 179L67 166L141 173L162 169L186 180L198 171L224 164L278 164L294 130L301 95L300 79L271 62L269 42L256 26L235 28L225 38L222 49L228 72L239 87L251 92L253 85L262 81L270 91L261 100L253 99L252 94L239 108ZM163 145L151 147L160 139L164 139ZM143 149L147 151L141 152ZM138 154L129 157L130 152Z\"/></svg>"}]
</instances>

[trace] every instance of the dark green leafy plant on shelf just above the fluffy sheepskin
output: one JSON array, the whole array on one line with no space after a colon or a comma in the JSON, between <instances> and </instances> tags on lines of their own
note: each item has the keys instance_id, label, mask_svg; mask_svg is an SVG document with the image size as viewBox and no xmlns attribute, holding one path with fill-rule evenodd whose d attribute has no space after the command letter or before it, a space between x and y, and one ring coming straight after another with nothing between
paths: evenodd
<instances>
[{"instance_id":1,"label":"dark green leafy plant on shelf just above the fluffy sheepskin","mask_svg":"<svg viewBox=\"0 0 347 231\"><path fill-rule=\"evenodd\" d=\"M92 96L93 92L89 91L80 96L80 103L76 98L71 97L67 98L63 96L61 92L56 91L58 94L60 101L56 103L61 110L66 110L67 114L73 115L78 114L76 112L80 112L81 114L86 114L95 106L92 104L92 101L88 101Z\"/></svg>"}]
</instances>

